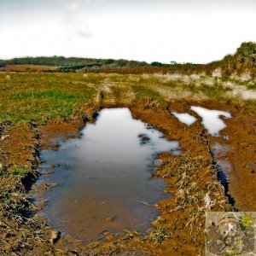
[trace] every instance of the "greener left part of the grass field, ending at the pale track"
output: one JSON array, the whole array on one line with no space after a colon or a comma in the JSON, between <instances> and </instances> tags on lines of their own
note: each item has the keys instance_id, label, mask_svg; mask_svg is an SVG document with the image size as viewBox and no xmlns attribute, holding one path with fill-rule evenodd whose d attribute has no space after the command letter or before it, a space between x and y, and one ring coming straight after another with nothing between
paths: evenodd
<instances>
[{"instance_id":1,"label":"greener left part of the grass field, ending at the pale track","mask_svg":"<svg viewBox=\"0 0 256 256\"><path fill-rule=\"evenodd\" d=\"M0 74L0 120L18 122L68 118L79 104L92 102L101 79L73 74Z\"/></svg>"}]
</instances>

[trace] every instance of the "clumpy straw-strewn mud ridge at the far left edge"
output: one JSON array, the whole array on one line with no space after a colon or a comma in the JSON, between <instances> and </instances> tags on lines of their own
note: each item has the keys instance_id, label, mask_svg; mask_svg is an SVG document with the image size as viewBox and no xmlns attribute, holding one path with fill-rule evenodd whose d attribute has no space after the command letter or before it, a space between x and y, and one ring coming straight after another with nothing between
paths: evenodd
<instances>
[{"instance_id":1,"label":"clumpy straw-strewn mud ridge at the far left edge","mask_svg":"<svg viewBox=\"0 0 256 256\"><path fill-rule=\"evenodd\" d=\"M58 232L49 230L44 222L26 218L26 212L37 209L26 193L39 175L38 130L29 123L3 123L1 131L0 254L52 253Z\"/></svg>"}]
</instances>

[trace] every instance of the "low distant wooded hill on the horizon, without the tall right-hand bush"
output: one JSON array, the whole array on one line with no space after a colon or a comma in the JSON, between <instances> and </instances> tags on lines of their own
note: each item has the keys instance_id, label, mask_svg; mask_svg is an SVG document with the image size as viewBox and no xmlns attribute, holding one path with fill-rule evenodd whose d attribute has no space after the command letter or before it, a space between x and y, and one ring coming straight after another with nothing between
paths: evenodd
<instances>
[{"instance_id":1,"label":"low distant wooded hill on the horizon, without the tall right-hand bush","mask_svg":"<svg viewBox=\"0 0 256 256\"><path fill-rule=\"evenodd\" d=\"M14 65L19 68L15 68ZM159 61L153 61L152 63L147 63L145 61L127 61L127 60L113 60L113 59L89 59L89 58L77 58L77 57L63 57L63 56L53 56L53 57L25 57L25 58L15 58L11 60L0 60L0 67L2 71L12 71L20 72L22 67L26 66L24 72L33 72L34 66L44 66L49 67L44 69L44 72L76 72L82 70L84 72L93 73L167 73L167 72L188 72L199 66L199 64L193 63L183 63L178 64L172 61L172 64L165 64ZM8 68L11 66L11 68ZM57 68L50 68L57 67ZM1 69L0 69L1 70Z\"/></svg>"}]
</instances>

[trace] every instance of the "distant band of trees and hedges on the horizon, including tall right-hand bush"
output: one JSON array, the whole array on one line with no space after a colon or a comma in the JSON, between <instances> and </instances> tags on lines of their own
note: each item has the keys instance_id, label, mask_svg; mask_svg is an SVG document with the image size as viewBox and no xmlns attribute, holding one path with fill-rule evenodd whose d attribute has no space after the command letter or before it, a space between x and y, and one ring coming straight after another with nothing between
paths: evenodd
<instances>
[{"instance_id":1,"label":"distant band of trees and hedges on the horizon, including tall right-hand bush","mask_svg":"<svg viewBox=\"0 0 256 256\"><path fill-rule=\"evenodd\" d=\"M177 63L170 61L169 64L154 61L127 61L113 59L90 59L90 58L66 58L63 56L53 57L26 57L11 60L0 60L0 67L7 65L44 65L57 67L45 69L47 73L205 73L211 75L219 71L223 77L229 77L236 73L250 73L256 76L256 43L247 42L241 44L234 55L226 55L221 61L213 61L209 64Z\"/></svg>"}]
</instances>

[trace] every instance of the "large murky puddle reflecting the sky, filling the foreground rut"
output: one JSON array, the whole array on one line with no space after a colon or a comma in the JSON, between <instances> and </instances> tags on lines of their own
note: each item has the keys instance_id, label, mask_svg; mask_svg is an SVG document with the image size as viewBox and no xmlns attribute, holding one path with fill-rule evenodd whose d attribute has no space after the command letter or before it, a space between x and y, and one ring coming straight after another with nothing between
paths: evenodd
<instances>
[{"instance_id":1,"label":"large murky puddle reflecting the sky, filling the foreground rut","mask_svg":"<svg viewBox=\"0 0 256 256\"><path fill-rule=\"evenodd\" d=\"M81 133L57 151L42 152L42 172L54 172L38 184L59 186L43 194L47 204L39 213L53 228L84 241L104 230L148 230L160 214L150 206L170 196L163 192L164 181L151 177L156 154L179 154L178 143L132 119L128 108L103 109Z\"/></svg>"}]
</instances>

